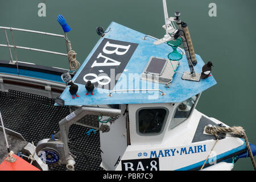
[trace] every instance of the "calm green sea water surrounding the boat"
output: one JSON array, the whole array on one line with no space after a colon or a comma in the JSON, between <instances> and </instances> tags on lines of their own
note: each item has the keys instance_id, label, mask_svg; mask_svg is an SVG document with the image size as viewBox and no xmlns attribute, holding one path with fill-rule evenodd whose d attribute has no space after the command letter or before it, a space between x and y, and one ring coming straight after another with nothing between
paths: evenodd
<instances>
[{"instance_id":1,"label":"calm green sea water surrounding the boat","mask_svg":"<svg viewBox=\"0 0 256 182\"><path fill-rule=\"evenodd\" d=\"M46 5L46 16L38 15L38 5L42 2ZM210 3L216 4L216 16L209 15ZM169 16L179 10L181 19L188 24L195 52L214 65L212 74L217 85L203 92L197 110L229 126L242 126L253 144L256 144L255 7L255 0L167 0ZM68 38L80 63L100 38L96 27L106 28L112 21L156 38L165 34L161 0L0 1L0 26L63 34L56 20L59 14L72 28ZM11 34L8 35L12 44ZM16 46L66 53L61 38L14 31L14 40ZM2 30L0 44L6 44ZM10 60L7 48L0 47L0 55L1 60ZM69 68L64 56L22 49L17 50L17 55L19 61ZM239 159L233 170L253 170L250 158Z\"/></svg>"}]
</instances>

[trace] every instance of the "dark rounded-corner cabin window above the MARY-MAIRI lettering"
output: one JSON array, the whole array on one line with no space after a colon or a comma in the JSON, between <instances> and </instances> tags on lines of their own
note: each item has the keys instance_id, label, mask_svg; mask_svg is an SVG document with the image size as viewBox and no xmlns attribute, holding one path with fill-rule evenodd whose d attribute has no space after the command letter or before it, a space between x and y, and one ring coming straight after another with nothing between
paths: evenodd
<instances>
[{"instance_id":1,"label":"dark rounded-corner cabin window above the MARY-MAIRI lettering","mask_svg":"<svg viewBox=\"0 0 256 182\"><path fill-rule=\"evenodd\" d=\"M143 108L137 111L137 132L139 134L162 133L168 110L164 107Z\"/></svg>"}]
</instances>

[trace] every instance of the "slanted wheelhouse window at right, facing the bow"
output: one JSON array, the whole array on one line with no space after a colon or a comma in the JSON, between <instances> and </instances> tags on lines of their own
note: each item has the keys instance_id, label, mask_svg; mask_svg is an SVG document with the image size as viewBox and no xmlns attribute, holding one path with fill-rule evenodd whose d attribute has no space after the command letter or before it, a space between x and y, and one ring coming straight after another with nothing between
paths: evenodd
<instances>
[{"instance_id":1,"label":"slanted wheelhouse window at right, facing the bow","mask_svg":"<svg viewBox=\"0 0 256 182\"><path fill-rule=\"evenodd\" d=\"M176 107L174 118L172 118L169 129L173 129L175 126L179 125L189 117L191 111L193 110L193 106L196 103L197 96L198 95L188 98Z\"/></svg>"}]
</instances>

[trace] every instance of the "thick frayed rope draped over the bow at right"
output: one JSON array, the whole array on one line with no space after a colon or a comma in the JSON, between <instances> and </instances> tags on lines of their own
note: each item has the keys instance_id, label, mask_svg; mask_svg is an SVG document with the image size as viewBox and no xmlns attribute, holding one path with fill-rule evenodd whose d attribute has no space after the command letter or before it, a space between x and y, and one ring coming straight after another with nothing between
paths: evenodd
<instances>
[{"instance_id":1,"label":"thick frayed rope draped over the bow at right","mask_svg":"<svg viewBox=\"0 0 256 182\"><path fill-rule=\"evenodd\" d=\"M216 143L218 142L218 140L220 139L220 137L218 137L217 133L230 133L230 134L234 135L234 137L245 139L246 148L247 148L247 151L249 152L251 163L253 164L254 170L256 171L256 164L255 164L255 160L253 157L253 152L251 152L251 147L250 147L248 138L245 134L245 130L241 126L216 127L216 126L208 125L205 127L205 132L208 134L212 134L217 138L216 142L214 143L214 145L212 147L212 150L213 150L214 146L216 145ZM210 152L212 152L212 150L210 150ZM209 155L210 155L210 152L209 152ZM207 156L207 159L205 159L205 162L204 162L203 166L201 167L201 169L204 168L204 165L207 162L209 155Z\"/></svg>"}]
</instances>

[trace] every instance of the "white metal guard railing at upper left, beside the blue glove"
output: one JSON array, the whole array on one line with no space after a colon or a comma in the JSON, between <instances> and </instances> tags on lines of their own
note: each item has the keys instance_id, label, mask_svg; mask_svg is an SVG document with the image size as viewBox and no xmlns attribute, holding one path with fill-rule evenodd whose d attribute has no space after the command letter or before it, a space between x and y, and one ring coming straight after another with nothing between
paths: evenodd
<instances>
[{"instance_id":1,"label":"white metal guard railing at upper left, beside the blue glove","mask_svg":"<svg viewBox=\"0 0 256 182\"><path fill-rule=\"evenodd\" d=\"M49 36L57 36L60 38L64 38L65 39L65 43L66 43L66 47L67 47L67 52L69 51L68 49L68 37L67 37L67 33L65 33L64 35L59 35L59 34L52 34L52 33L48 33L48 32L41 32L41 31L34 31L34 30L26 30L26 29L21 29L21 28L12 28L12 27L1 27L0 29L3 30L3 32L5 33L5 38L6 38L6 44L0 44L0 47L8 47L9 48L9 54L10 54L10 64L15 64L14 60L13 60L13 55L11 53L11 48L14 48L14 54L15 54L15 61L17 64L17 69L18 69L18 58L17 58L17 54L16 54L16 48L19 49L27 49L27 50L31 50L31 51L38 51L38 52L46 52L46 53L52 53L55 55L61 55L61 56L68 56L67 53L61 53L61 52L54 52L54 51L47 51L44 49L37 49L37 48L31 48L31 47L22 47L22 46L15 46L14 43L14 36L13 36L13 31L23 31L23 32L31 32L31 33L35 33L35 34L42 34L42 35L49 35ZM6 30L10 30L11 31L11 38L13 41L13 45L10 45L9 43L9 39L7 36L7 32Z\"/></svg>"}]
</instances>

